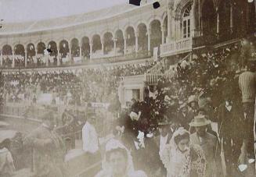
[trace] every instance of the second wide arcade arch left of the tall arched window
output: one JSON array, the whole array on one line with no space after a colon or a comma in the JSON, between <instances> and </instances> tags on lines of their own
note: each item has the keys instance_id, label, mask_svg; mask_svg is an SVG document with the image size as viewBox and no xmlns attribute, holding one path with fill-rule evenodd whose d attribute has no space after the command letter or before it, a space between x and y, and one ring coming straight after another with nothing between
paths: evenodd
<instances>
[{"instance_id":1,"label":"second wide arcade arch left of the tall arched window","mask_svg":"<svg viewBox=\"0 0 256 177\"><path fill-rule=\"evenodd\" d=\"M138 26L138 47L139 51L146 51L147 49L147 36L146 24L140 23Z\"/></svg>"}]
</instances>

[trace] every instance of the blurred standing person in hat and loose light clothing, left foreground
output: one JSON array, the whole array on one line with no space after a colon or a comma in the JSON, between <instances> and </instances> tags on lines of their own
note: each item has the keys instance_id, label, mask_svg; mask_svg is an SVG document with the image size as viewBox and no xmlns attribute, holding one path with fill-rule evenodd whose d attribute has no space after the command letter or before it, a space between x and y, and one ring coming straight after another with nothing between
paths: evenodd
<instances>
[{"instance_id":1,"label":"blurred standing person in hat and loose light clothing, left foreground","mask_svg":"<svg viewBox=\"0 0 256 177\"><path fill-rule=\"evenodd\" d=\"M53 130L54 112L41 116L42 124L24 140L25 146L33 148L33 172L36 176L65 176L63 159L65 147L61 137Z\"/></svg>"}]
</instances>

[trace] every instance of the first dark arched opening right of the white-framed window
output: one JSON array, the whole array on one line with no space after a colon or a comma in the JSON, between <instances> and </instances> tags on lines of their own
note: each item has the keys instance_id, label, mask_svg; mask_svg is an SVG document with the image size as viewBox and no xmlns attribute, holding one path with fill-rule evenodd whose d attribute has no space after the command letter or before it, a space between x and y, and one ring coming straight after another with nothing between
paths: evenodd
<instances>
[{"instance_id":1,"label":"first dark arched opening right of the white-framed window","mask_svg":"<svg viewBox=\"0 0 256 177\"><path fill-rule=\"evenodd\" d=\"M212 0L205 0L202 7L202 23L204 36L215 36L216 34L216 13Z\"/></svg>"}]
</instances>

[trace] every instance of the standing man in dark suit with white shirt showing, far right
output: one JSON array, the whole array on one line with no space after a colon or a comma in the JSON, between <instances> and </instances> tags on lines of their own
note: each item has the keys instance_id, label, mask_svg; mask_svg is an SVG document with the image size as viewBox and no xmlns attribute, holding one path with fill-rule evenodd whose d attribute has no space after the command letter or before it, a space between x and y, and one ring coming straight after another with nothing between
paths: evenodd
<instances>
[{"instance_id":1,"label":"standing man in dark suit with white shirt showing, far right","mask_svg":"<svg viewBox=\"0 0 256 177\"><path fill-rule=\"evenodd\" d=\"M243 115L240 104L233 101L234 97L228 90L223 91L223 96L224 101L218 107L218 135L223 143L226 174L237 176L237 161L243 143Z\"/></svg>"}]
</instances>

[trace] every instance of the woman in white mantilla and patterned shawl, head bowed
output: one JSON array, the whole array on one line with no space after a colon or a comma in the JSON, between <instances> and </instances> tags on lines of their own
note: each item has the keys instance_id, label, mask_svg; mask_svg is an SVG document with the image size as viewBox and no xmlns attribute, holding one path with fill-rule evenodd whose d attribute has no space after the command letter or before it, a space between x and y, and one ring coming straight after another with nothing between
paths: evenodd
<instances>
[{"instance_id":1,"label":"woman in white mantilla and patterned shawl, head bowed","mask_svg":"<svg viewBox=\"0 0 256 177\"><path fill-rule=\"evenodd\" d=\"M204 152L197 145L189 145L189 132L182 127L175 131L160 158L168 177L204 177Z\"/></svg>"}]
</instances>

